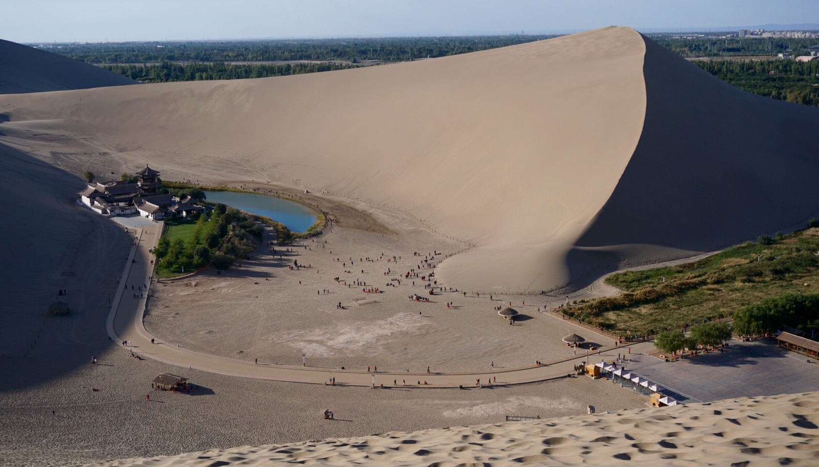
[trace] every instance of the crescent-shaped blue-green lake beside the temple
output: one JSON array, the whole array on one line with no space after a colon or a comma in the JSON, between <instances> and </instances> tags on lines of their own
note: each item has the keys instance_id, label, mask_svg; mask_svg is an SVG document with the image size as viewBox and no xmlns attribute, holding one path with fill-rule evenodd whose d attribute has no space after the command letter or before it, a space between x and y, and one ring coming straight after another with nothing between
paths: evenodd
<instances>
[{"instance_id":1,"label":"crescent-shaped blue-green lake beside the temple","mask_svg":"<svg viewBox=\"0 0 819 467\"><path fill-rule=\"evenodd\" d=\"M241 209L253 214L264 215L276 222L287 225L293 232L304 233L315 224L316 215L309 207L286 198L265 196L256 193L211 192L206 191L209 202L220 202L224 205Z\"/></svg>"}]
</instances>

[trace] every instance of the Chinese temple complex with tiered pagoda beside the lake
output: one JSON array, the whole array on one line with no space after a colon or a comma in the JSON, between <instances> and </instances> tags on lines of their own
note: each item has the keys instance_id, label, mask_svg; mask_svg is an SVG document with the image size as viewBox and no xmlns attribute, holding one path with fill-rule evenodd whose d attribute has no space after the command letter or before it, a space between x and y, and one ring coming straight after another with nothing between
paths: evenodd
<instances>
[{"instance_id":1,"label":"Chinese temple complex with tiered pagoda beside the lake","mask_svg":"<svg viewBox=\"0 0 819 467\"><path fill-rule=\"evenodd\" d=\"M179 199L170 193L160 193L159 172L151 167L145 165L137 177L135 184L122 181L88 184L79 192L80 201L102 215L138 214L154 221L172 214L187 217L193 211L205 211L191 197Z\"/></svg>"}]
</instances>

